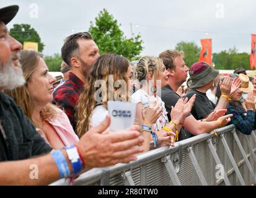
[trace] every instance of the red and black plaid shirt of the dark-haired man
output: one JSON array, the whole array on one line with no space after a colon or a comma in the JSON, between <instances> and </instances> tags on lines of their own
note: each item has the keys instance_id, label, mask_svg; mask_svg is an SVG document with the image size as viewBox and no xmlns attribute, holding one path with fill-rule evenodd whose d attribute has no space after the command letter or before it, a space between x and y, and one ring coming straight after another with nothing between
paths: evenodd
<instances>
[{"instance_id":1,"label":"red and black plaid shirt of the dark-haired man","mask_svg":"<svg viewBox=\"0 0 256 198\"><path fill-rule=\"evenodd\" d=\"M76 118L74 118L76 104L79 99L84 83L72 72L69 72L69 79L53 92L54 103L68 115L69 121L76 131Z\"/></svg>"}]
</instances>

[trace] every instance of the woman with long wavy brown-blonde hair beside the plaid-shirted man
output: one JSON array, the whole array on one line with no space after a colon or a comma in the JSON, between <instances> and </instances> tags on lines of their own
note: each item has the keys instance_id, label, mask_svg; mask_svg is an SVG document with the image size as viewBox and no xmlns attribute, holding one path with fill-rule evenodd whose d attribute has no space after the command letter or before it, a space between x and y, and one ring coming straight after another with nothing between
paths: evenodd
<instances>
[{"instance_id":1,"label":"woman with long wavy brown-blonde hair beside the plaid-shirted man","mask_svg":"<svg viewBox=\"0 0 256 198\"><path fill-rule=\"evenodd\" d=\"M96 59L77 104L79 137L89 129L90 124L92 126L99 124L107 116L108 100L128 101L131 79L133 79L133 71L128 59L117 54L104 54ZM121 83L120 87L116 86L118 82ZM123 88L123 92L120 92L120 88ZM160 114L159 108L152 106L143 111L143 121L154 123ZM144 151L149 150L149 141L144 140L143 147Z\"/></svg>"}]
</instances>

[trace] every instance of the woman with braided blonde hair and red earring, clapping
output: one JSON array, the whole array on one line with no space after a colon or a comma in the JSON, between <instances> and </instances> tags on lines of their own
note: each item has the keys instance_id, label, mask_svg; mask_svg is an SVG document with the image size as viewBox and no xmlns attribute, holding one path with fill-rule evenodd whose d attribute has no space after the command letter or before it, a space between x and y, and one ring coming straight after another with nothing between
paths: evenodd
<instances>
[{"instance_id":1,"label":"woman with braided blonde hair and red earring, clapping","mask_svg":"<svg viewBox=\"0 0 256 198\"><path fill-rule=\"evenodd\" d=\"M141 110L149 106L152 100L157 101L162 113L156 123L149 126L149 128L158 136L158 146L173 145L179 133L177 126L182 124L187 114L190 113L193 102L195 101L195 95L189 101L187 98L185 100L180 98L175 107L172 108L170 113L172 120L169 123L164 101L158 97L159 90L161 90L161 87L167 85L169 78L169 72L166 71L162 60L152 56L144 56L136 65L136 72L138 79L136 87L139 89L131 95L131 100L137 104L137 123L144 125L140 113ZM173 132L175 132L175 135Z\"/></svg>"}]
</instances>

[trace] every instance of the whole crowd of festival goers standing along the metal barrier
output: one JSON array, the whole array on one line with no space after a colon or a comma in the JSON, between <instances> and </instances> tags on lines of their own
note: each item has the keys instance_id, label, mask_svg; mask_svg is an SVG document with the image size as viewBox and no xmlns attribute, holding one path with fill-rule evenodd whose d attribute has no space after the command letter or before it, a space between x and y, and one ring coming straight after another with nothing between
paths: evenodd
<instances>
[{"instance_id":1,"label":"whole crowd of festival goers standing along the metal barrier","mask_svg":"<svg viewBox=\"0 0 256 198\"><path fill-rule=\"evenodd\" d=\"M42 54L22 50L7 31L18 9L0 9L0 184L72 180L227 124L246 135L255 129L256 85L245 69L222 75L206 62L188 68L182 51L131 64L100 54L90 33L74 33L61 48L63 79L54 88ZM110 100L136 104L133 126L109 131ZM31 164L39 179L29 177Z\"/></svg>"}]
</instances>

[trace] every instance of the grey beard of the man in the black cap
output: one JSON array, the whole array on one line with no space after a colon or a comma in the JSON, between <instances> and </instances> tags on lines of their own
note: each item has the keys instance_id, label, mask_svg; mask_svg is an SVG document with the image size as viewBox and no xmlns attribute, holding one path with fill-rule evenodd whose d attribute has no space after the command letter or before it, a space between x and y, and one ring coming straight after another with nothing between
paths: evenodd
<instances>
[{"instance_id":1,"label":"grey beard of the man in the black cap","mask_svg":"<svg viewBox=\"0 0 256 198\"><path fill-rule=\"evenodd\" d=\"M17 63L20 69L15 69L12 65L13 59L17 57L18 54L14 54L7 65L0 65L0 87L3 89L12 90L25 84L20 62Z\"/></svg>"}]
</instances>

